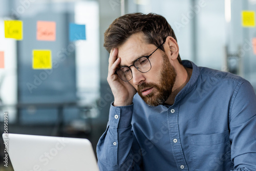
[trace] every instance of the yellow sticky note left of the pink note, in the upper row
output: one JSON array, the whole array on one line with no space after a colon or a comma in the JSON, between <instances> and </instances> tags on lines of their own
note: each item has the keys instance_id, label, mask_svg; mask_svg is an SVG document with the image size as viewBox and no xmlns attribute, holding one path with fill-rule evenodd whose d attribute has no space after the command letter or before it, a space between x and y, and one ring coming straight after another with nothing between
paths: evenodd
<instances>
[{"instance_id":1,"label":"yellow sticky note left of the pink note, in the upper row","mask_svg":"<svg viewBox=\"0 0 256 171\"><path fill-rule=\"evenodd\" d=\"M23 22L20 20L5 20L5 37L23 39Z\"/></svg>"}]
</instances>

